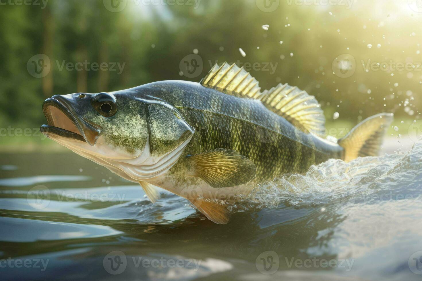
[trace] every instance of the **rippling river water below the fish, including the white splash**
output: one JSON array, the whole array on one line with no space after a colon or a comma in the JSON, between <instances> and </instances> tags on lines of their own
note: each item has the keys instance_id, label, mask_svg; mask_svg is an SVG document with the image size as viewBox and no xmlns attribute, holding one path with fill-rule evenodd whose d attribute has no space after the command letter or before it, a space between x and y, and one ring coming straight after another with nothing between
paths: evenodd
<instances>
[{"instance_id":1,"label":"rippling river water below the fish, including the white splash","mask_svg":"<svg viewBox=\"0 0 422 281\"><path fill-rule=\"evenodd\" d=\"M70 152L0 155L3 280L420 280L422 143L257 186L216 225Z\"/></svg>"}]
</instances>

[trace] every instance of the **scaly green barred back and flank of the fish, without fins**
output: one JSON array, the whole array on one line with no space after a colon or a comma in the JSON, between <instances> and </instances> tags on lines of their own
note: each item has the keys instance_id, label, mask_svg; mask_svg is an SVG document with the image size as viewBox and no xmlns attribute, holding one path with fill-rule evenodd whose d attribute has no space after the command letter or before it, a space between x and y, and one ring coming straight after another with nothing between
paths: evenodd
<instances>
[{"instance_id":1,"label":"scaly green barred back and flank of the fish, without fins","mask_svg":"<svg viewBox=\"0 0 422 281\"><path fill-rule=\"evenodd\" d=\"M216 148L238 151L257 166L255 183L303 173L315 163L341 158L343 148L303 133L259 101L182 81L156 82L143 88L172 103L187 123L197 128L186 155ZM185 164L178 163L172 171Z\"/></svg>"}]
</instances>

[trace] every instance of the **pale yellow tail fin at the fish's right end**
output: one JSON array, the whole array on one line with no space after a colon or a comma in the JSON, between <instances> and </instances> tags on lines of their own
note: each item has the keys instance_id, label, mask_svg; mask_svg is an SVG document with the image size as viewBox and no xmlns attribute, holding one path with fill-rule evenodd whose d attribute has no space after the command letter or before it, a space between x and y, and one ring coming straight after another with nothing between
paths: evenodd
<instances>
[{"instance_id":1,"label":"pale yellow tail fin at the fish's right end","mask_svg":"<svg viewBox=\"0 0 422 281\"><path fill-rule=\"evenodd\" d=\"M394 119L392 113L381 113L359 123L338 144L344 148L344 161L358 157L378 156L384 134Z\"/></svg>"}]
</instances>

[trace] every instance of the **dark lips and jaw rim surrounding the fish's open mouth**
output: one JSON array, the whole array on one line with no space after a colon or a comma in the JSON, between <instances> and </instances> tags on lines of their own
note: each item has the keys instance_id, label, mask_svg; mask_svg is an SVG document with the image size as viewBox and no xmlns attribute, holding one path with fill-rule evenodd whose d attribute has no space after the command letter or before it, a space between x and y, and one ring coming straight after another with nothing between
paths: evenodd
<instances>
[{"instance_id":1,"label":"dark lips and jaw rim surrounding the fish's open mouth","mask_svg":"<svg viewBox=\"0 0 422 281\"><path fill-rule=\"evenodd\" d=\"M59 100L58 98L60 98L60 96L57 98L48 98L44 101L43 112L46 116L48 125L42 125L40 131L43 134L58 134L61 136L78 139L81 141L84 140L84 142L87 142L91 146L95 145L100 136L101 128L93 126L91 123L77 118L76 114L72 110L72 107L70 107L65 100ZM55 127L51 117L51 112L48 110L49 106L56 107L58 110L63 112L76 126L80 134L76 134L72 131L65 130L64 128Z\"/></svg>"}]
</instances>

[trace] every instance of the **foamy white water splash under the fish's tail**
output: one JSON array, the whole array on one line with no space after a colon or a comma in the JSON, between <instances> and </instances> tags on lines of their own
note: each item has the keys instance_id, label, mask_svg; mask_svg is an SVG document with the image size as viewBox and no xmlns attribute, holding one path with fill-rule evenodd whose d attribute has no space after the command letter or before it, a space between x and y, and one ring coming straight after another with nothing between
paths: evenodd
<instances>
[{"instance_id":1,"label":"foamy white water splash under the fish's tail","mask_svg":"<svg viewBox=\"0 0 422 281\"><path fill-rule=\"evenodd\" d=\"M346 163L330 159L313 165L306 174L287 174L258 185L240 198L233 210L250 208L315 207L324 204L345 206L369 202L380 193L417 196L422 180L422 143L406 154L357 158ZM246 202L249 202L246 203Z\"/></svg>"}]
</instances>

